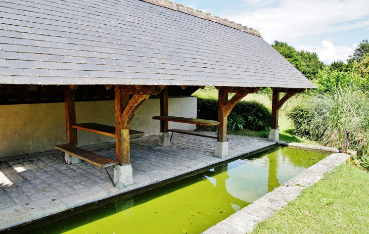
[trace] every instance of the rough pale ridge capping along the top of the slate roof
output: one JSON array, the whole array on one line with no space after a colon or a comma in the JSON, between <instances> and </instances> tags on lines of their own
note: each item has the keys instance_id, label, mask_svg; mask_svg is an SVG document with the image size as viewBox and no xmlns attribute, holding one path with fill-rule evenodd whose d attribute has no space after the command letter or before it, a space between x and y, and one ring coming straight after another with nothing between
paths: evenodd
<instances>
[{"instance_id":1,"label":"rough pale ridge capping along the top of the slate roof","mask_svg":"<svg viewBox=\"0 0 369 234\"><path fill-rule=\"evenodd\" d=\"M249 28L242 24L237 24L235 21L229 21L228 19L223 19L223 18L220 18L219 16L213 16L211 13L205 13L203 11L198 11L193 8L186 7L184 4L177 4L177 3L174 3L172 1L167 1L167 0L141 0L141 1L151 3L157 6L161 6L161 7L169 8L174 11L186 13L192 16L205 19L205 20L210 20L215 23L222 24L230 28L238 29L238 30L253 34L255 36L261 37L260 32L254 28Z\"/></svg>"}]
</instances>

